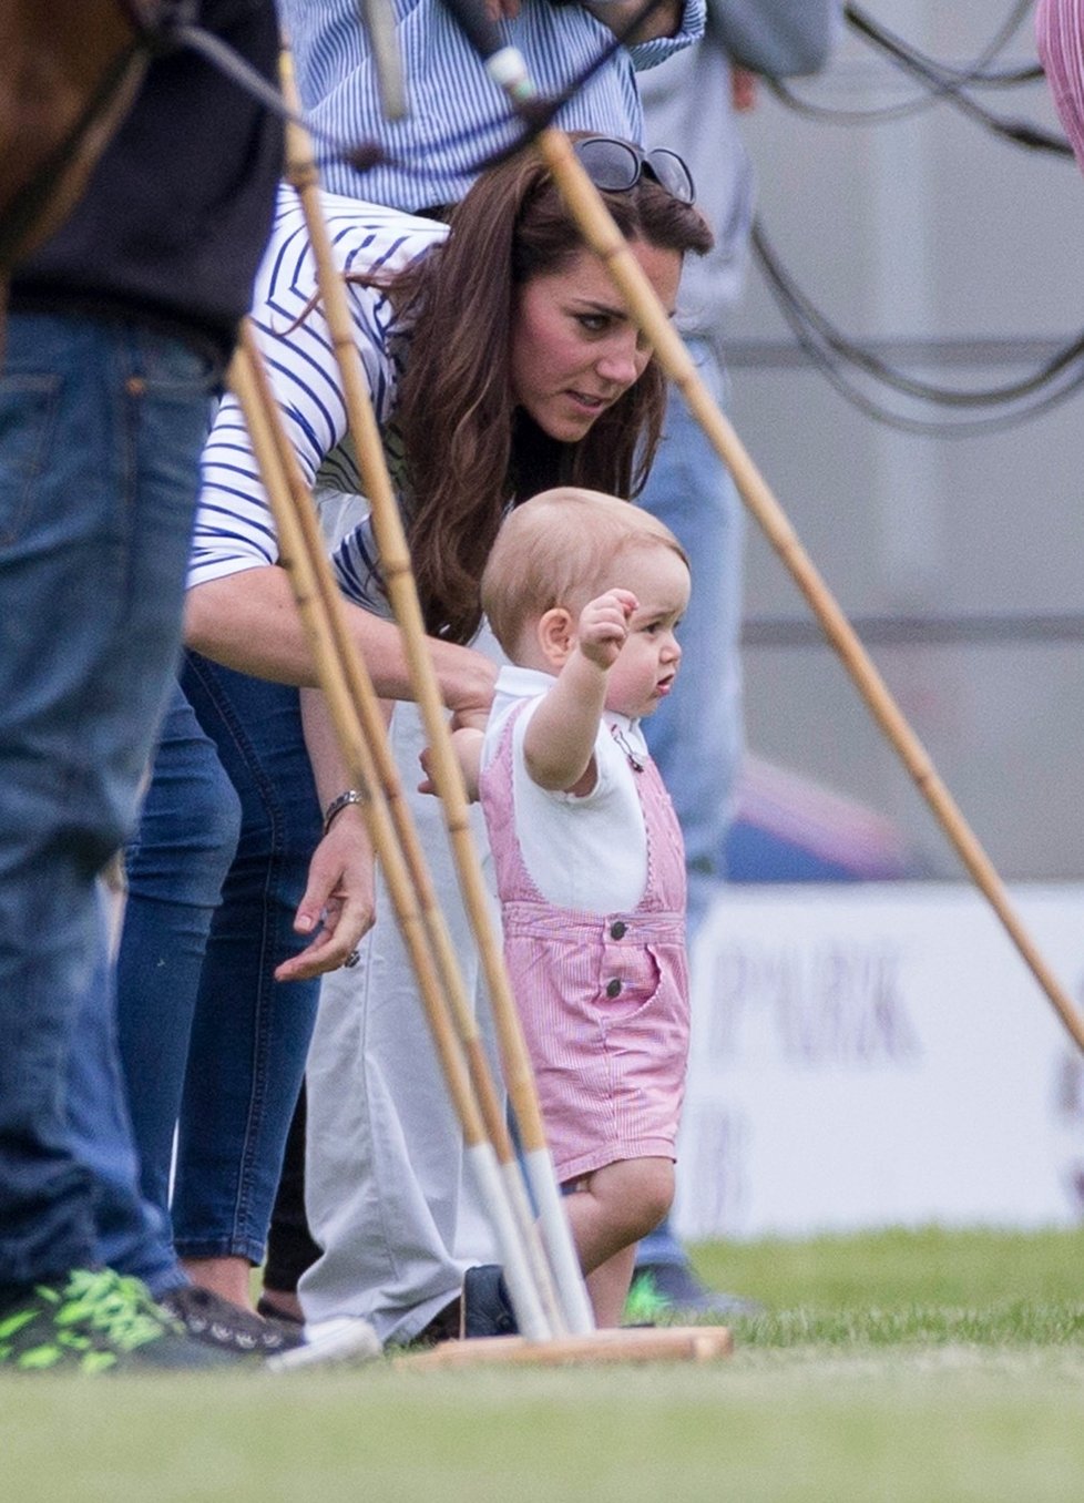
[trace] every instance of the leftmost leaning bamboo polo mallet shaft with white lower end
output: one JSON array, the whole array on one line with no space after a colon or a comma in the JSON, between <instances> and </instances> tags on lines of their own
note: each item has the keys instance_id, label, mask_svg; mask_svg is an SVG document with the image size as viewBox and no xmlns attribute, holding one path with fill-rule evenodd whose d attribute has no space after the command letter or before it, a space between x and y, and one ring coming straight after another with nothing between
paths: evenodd
<instances>
[{"instance_id":1,"label":"leftmost leaning bamboo polo mallet shaft with white lower end","mask_svg":"<svg viewBox=\"0 0 1084 1503\"><path fill-rule=\"evenodd\" d=\"M365 824L373 849L383 866L395 917L418 977L438 1061L463 1132L465 1154L477 1177L483 1204L501 1247L517 1323L529 1341L546 1341L552 1335L550 1321L543 1312L517 1216L471 1088L468 1066L442 990L442 978L433 960L418 890L398 843L385 788L379 780L373 745L383 744L385 735L376 691L349 639L343 601L323 552L311 496L283 428L281 413L271 392L251 325L242 331L242 344L232 365L230 383L250 428L253 449L275 516L283 562L290 573L298 609L313 645L320 687L328 697L350 777L362 792ZM401 804L398 786L394 797Z\"/></svg>"}]
</instances>

